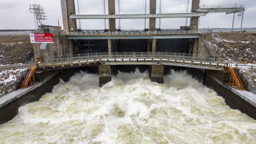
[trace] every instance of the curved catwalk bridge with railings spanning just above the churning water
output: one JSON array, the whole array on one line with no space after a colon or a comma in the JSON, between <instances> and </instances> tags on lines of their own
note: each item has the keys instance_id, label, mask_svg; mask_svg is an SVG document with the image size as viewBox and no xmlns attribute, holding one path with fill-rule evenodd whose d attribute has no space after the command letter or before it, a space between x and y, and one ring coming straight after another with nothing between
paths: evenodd
<instances>
[{"instance_id":1,"label":"curved catwalk bridge with railings spanning just above the churning water","mask_svg":"<svg viewBox=\"0 0 256 144\"><path fill-rule=\"evenodd\" d=\"M93 65L172 65L223 70L227 63L212 55L168 52L114 52L52 56L38 60L40 71Z\"/></svg>"}]
</instances>

